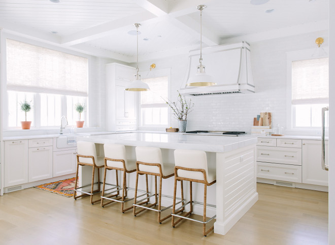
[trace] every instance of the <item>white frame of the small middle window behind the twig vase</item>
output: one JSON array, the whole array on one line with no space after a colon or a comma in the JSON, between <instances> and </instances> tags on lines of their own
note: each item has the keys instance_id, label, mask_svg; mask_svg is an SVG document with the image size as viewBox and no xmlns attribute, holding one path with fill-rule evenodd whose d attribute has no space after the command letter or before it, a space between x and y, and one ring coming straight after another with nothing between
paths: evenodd
<instances>
[{"instance_id":1,"label":"white frame of the small middle window behind the twig vase","mask_svg":"<svg viewBox=\"0 0 335 245\"><path fill-rule=\"evenodd\" d=\"M144 71L141 72L141 79L148 79L148 78L158 78L158 77L168 77L168 99L171 98L171 68L163 68L163 69L153 69L152 71ZM162 130L168 127L171 124L171 109L168 107L168 124L166 125L142 125L142 112L141 112L141 93L140 92L138 96L138 119L139 122L138 128L140 130L150 130L150 129L156 129L156 130Z\"/></svg>"}]
</instances>

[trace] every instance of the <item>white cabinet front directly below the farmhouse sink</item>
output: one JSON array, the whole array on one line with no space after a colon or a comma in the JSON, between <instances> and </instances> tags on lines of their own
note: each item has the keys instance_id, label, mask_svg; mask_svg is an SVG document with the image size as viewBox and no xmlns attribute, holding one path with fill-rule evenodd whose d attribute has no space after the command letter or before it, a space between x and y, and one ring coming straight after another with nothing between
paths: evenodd
<instances>
[{"instance_id":1,"label":"white cabinet front directly below the farmhouse sink","mask_svg":"<svg viewBox=\"0 0 335 245\"><path fill-rule=\"evenodd\" d=\"M53 153L53 177L76 172L76 151L66 150Z\"/></svg>"}]
</instances>

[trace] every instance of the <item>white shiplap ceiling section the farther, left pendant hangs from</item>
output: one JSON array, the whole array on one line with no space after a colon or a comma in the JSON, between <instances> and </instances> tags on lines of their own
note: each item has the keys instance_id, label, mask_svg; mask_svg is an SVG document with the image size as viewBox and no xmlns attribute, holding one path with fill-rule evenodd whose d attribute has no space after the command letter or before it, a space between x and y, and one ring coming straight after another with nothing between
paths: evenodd
<instances>
[{"instance_id":1,"label":"white shiplap ceiling section the farther, left pendant hangs from","mask_svg":"<svg viewBox=\"0 0 335 245\"><path fill-rule=\"evenodd\" d=\"M136 55L136 36L128 34L128 31L136 31L135 26L127 26L124 29L117 29L110 36L86 42L87 45L109 50L126 56ZM175 28L169 22L157 22L154 24L139 27L139 55L146 53L173 50L182 47L196 49L199 47L199 40L194 39L188 33ZM144 40L146 39L146 40Z\"/></svg>"}]
</instances>

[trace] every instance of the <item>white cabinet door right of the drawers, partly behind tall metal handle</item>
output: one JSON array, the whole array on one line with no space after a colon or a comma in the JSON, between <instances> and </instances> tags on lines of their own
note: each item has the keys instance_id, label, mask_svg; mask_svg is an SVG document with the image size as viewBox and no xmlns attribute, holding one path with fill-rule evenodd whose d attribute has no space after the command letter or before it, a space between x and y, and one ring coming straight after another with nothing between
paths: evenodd
<instances>
[{"instance_id":1,"label":"white cabinet door right of the drawers, partly behind tall metal handle","mask_svg":"<svg viewBox=\"0 0 335 245\"><path fill-rule=\"evenodd\" d=\"M328 142L325 142L326 163ZM328 186L328 171L321 168L321 141L303 141L303 183Z\"/></svg>"}]
</instances>

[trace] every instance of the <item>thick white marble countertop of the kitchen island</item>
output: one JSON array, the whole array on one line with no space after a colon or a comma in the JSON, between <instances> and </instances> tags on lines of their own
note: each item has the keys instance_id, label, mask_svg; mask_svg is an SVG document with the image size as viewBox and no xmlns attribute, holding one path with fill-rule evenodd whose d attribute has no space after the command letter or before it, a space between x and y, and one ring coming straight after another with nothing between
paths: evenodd
<instances>
[{"instance_id":1,"label":"thick white marble countertop of the kitchen island","mask_svg":"<svg viewBox=\"0 0 335 245\"><path fill-rule=\"evenodd\" d=\"M172 133L123 133L87 135L83 141L97 144L118 143L126 146L152 146L165 149L189 149L207 152L228 152L257 143L257 137L218 137Z\"/></svg>"}]
</instances>

